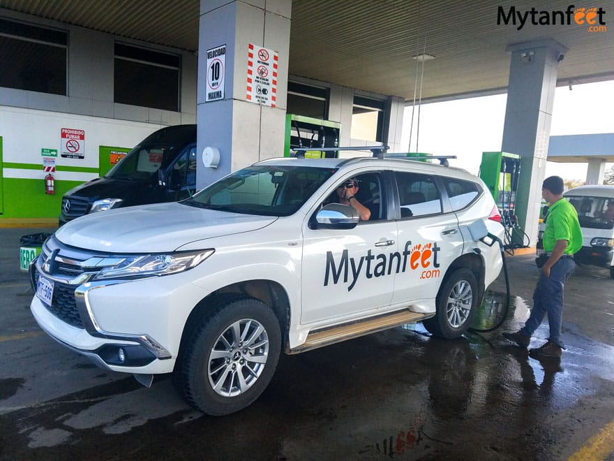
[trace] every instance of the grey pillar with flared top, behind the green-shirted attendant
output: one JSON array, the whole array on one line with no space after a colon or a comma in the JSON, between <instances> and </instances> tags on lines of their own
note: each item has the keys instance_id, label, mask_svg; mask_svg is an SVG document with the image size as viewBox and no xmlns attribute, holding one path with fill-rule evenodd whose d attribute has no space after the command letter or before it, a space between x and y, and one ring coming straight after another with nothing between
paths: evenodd
<instances>
[{"instance_id":1,"label":"grey pillar with flared top, behind the green-shirted attendant","mask_svg":"<svg viewBox=\"0 0 614 461\"><path fill-rule=\"evenodd\" d=\"M511 63L501 149L522 157L516 214L534 244L558 64L567 48L546 39L509 45L507 51L511 52Z\"/></svg>"}]
</instances>

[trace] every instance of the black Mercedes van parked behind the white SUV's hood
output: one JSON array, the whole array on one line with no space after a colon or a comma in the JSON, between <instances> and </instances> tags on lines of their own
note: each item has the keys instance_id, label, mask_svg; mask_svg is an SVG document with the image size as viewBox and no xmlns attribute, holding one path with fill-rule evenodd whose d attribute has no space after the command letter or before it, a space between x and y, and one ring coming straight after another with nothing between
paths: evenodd
<instances>
[{"instance_id":1,"label":"black Mercedes van parked behind the white SUV's hood","mask_svg":"<svg viewBox=\"0 0 614 461\"><path fill-rule=\"evenodd\" d=\"M103 177L70 189L59 225L87 213L145 203L173 202L196 190L196 125L151 133Z\"/></svg>"}]
</instances>

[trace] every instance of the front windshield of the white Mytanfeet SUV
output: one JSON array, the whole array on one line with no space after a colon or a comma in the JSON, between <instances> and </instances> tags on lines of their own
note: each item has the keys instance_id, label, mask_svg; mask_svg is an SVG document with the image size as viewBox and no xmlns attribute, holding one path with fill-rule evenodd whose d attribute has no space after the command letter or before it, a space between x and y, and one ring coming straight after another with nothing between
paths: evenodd
<instances>
[{"instance_id":1,"label":"front windshield of the white Mytanfeet SUV","mask_svg":"<svg viewBox=\"0 0 614 461\"><path fill-rule=\"evenodd\" d=\"M333 175L336 168L250 166L181 203L263 216L290 216Z\"/></svg>"}]
</instances>

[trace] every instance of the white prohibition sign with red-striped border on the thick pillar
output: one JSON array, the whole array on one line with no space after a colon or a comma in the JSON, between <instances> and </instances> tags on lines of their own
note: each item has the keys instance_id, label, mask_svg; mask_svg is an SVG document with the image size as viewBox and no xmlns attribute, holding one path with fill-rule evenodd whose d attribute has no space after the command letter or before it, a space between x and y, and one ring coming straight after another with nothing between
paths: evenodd
<instances>
[{"instance_id":1,"label":"white prohibition sign with red-striped border on the thick pillar","mask_svg":"<svg viewBox=\"0 0 614 461\"><path fill-rule=\"evenodd\" d=\"M277 98L278 53L253 43L247 59L247 100L275 107Z\"/></svg>"}]
</instances>

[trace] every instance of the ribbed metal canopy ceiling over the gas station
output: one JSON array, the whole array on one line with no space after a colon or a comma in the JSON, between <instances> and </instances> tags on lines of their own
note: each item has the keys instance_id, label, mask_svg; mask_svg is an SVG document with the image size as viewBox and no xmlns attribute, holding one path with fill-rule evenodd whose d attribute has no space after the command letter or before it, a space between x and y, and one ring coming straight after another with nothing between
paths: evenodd
<instances>
[{"instance_id":1,"label":"ribbed metal canopy ceiling over the gas station","mask_svg":"<svg viewBox=\"0 0 614 461\"><path fill-rule=\"evenodd\" d=\"M590 3L599 10L593 26L569 2L546 3L548 10L509 0L294 0L289 73L407 103L414 95L426 102L497 94L508 85L509 45L550 38L567 47L557 85L613 80L607 29L614 27L614 1ZM0 8L198 49L200 0L0 0Z\"/></svg>"}]
</instances>

